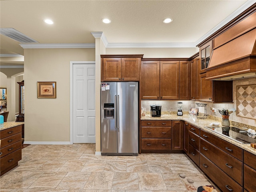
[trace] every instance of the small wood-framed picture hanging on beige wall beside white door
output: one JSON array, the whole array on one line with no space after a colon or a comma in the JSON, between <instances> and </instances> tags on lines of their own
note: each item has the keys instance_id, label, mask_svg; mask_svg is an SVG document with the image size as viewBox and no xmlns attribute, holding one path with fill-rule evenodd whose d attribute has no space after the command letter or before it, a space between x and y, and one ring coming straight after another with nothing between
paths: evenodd
<instances>
[{"instance_id":1,"label":"small wood-framed picture hanging on beige wall beside white door","mask_svg":"<svg viewBox=\"0 0 256 192\"><path fill-rule=\"evenodd\" d=\"M37 98L56 98L56 82L37 82Z\"/></svg>"}]
</instances>

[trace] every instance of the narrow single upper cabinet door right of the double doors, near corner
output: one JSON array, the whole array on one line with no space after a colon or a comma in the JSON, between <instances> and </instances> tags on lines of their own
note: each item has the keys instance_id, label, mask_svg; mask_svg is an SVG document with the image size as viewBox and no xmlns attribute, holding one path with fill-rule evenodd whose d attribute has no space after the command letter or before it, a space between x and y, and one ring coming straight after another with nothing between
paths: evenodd
<instances>
[{"instance_id":1,"label":"narrow single upper cabinet door right of the double doors, near corner","mask_svg":"<svg viewBox=\"0 0 256 192\"><path fill-rule=\"evenodd\" d=\"M180 61L180 99L190 99L190 62Z\"/></svg>"}]
</instances>

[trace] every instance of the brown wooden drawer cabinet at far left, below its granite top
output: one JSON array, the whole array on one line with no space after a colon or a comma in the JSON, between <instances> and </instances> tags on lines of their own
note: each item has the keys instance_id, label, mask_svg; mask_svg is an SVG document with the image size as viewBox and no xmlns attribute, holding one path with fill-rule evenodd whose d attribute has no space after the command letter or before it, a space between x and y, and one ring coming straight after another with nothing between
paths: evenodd
<instances>
[{"instance_id":1,"label":"brown wooden drawer cabinet at far left, below its granite top","mask_svg":"<svg viewBox=\"0 0 256 192\"><path fill-rule=\"evenodd\" d=\"M15 126L0 131L0 175L18 166L21 160L21 128Z\"/></svg>"}]
</instances>

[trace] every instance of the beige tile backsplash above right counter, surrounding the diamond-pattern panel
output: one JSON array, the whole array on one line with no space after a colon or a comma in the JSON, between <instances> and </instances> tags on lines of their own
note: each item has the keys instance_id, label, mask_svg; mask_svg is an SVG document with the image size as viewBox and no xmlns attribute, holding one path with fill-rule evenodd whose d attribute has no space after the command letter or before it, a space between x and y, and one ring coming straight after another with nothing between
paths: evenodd
<instances>
[{"instance_id":1,"label":"beige tile backsplash above right counter, surrounding the diamond-pattern panel","mask_svg":"<svg viewBox=\"0 0 256 192\"><path fill-rule=\"evenodd\" d=\"M216 119L221 119L222 116L218 112L218 109L222 110L224 109L236 109L236 104L237 104L237 94L236 94L236 86L240 85L251 85L251 84L256 84L256 78L246 78L242 80L234 80L233 81L233 102L234 103L210 103L210 102L199 102L199 101L194 101L194 100L142 100L141 101L141 106L144 108L145 112L150 113L150 105L151 104L160 104L162 105L162 112L177 112L178 110L178 104L177 102L182 102L183 103L183 112L188 112L190 108L197 108L196 103L207 103L206 106L206 113L210 116L216 117ZM211 108L215 108L216 112L212 112ZM204 112L203 107L199 107L199 112ZM235 124L239 123L242 124L243 127L248 127L248 126L256 126L256 120L255 119L250 119L250 118L245 118L241 116L236 116L236 111L230 115L230 120L233 121L233 126Z\"/></svg>"}]
</instances>

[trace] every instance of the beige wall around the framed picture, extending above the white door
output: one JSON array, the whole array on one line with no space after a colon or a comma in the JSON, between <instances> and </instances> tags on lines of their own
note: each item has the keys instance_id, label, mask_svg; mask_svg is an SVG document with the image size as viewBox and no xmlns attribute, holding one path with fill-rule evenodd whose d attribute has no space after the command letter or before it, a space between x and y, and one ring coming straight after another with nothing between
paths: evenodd
<instances>
[{"instance_id":1,"label":"beige wall around the framed picture, extending above the white door","mask_svg":"<svg viewBox=\"0 0 256 192\"><path fill-rule=\"evenodd\" d=\"M70 61L95 61L95 50L24 50L25 142L70 141ZM57 98L37 98L40 81L56 81Z\"/></svg>"}]
</instances>

